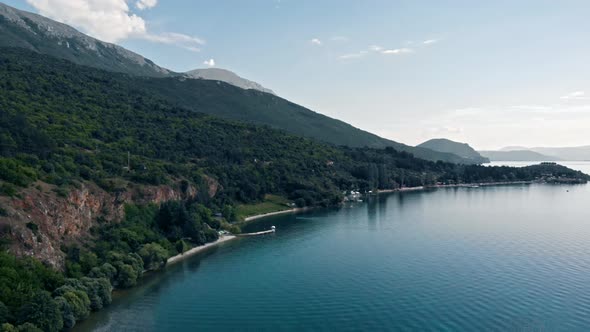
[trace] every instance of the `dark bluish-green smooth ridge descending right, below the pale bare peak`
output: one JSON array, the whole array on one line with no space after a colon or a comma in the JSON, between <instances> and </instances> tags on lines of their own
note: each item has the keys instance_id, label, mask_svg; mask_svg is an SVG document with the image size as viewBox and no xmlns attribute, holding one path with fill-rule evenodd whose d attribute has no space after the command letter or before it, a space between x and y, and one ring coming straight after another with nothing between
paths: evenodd
<instances>
[{"instance_id":1,"label":"dark bluish-green smooth ridge descending right, below the pale bare peak","mask_svg":"<svg viewBox=\"0 0 590 332\"><path fill-rule=\"evenodd\" d=\"M472 160L451 153L411 147L387 140L278 96L253 89L244 90L221 81L168 77L140 78L136 84L183 108L225 119L267 125L334 145L393 147L426 160L473 163Z\"/></svg>"}]
</instances>

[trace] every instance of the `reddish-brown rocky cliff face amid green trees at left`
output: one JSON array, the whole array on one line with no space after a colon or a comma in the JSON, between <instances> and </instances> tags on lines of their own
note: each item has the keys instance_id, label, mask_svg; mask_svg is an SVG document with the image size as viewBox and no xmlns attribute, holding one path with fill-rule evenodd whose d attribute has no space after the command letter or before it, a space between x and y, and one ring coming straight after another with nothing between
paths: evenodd
<instances>
[{"instance_id":1,"label":"reddish-brown rocky cliff face amid green trees at left","mask_svg":"<svg viewBox=\"0 0 590 332\"><path fill-rule=\"evenodd\" d=\"M213 197L219 185L206 179L207 192ZM64 196L39 183L23 190L18 198L0 197L4 208L0 233L11 240L11 251L19 256L34 256L56 268L62 268L63 244L82 241L99 222L119 222L125 204L147 204L187 200L197 195L193 186L142 186L119 193L108 193L91 183L83 183Z\"/></svg>"}]
</instances>

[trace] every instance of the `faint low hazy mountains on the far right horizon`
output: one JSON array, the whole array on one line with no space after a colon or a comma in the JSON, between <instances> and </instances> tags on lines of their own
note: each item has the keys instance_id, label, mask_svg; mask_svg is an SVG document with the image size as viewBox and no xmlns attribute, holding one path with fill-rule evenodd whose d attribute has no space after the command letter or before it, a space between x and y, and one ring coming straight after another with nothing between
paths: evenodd
<instances>
[{"instance_id":1,"label":"faint low hazy mountains on the far right horizon","mask_svg":"<svg viewBox=\"0 0 590 332\"><path fill-rule=\"evenodd\" d=\"M590 160L590 146L577 147L535 147L509 146L499 151L479 151L492 161L587 161Z\"/></svg>"}]
</instances>

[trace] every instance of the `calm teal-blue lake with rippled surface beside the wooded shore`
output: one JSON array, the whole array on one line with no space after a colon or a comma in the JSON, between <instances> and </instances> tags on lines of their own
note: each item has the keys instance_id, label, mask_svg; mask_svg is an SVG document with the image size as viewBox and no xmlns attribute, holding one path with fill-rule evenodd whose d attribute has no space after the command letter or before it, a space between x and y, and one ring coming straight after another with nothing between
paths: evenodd
<instances>
[{"instance_id":1,"label":"calm teal-blue lake with rippled surface beside the wooded shore","mask_svg":"<svg viewBox=\"0 0 590 332\"><path fill-rule=\"evenodd\" d=\"M590 185L446 188L272 217L75 330L587 331L588 202Z\"/></svg>"}]
</instances>

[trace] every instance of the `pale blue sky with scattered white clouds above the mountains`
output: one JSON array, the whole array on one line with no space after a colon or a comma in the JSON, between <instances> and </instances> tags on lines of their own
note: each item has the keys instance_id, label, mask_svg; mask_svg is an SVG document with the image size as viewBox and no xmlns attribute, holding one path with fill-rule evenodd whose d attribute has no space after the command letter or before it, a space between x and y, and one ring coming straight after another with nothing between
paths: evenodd
<instances>
[{"instance_id":1,"label":"pale blue sky with scattered white clouds above the mountains","mask_svg":"<svg viewBox=\"0 0 590 332\"><path fill-rule=\"evenodd\" d=\"M410 145L590 145L590 1L8 0Z\"/></svg>"}]
</instances>

